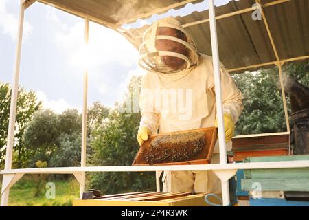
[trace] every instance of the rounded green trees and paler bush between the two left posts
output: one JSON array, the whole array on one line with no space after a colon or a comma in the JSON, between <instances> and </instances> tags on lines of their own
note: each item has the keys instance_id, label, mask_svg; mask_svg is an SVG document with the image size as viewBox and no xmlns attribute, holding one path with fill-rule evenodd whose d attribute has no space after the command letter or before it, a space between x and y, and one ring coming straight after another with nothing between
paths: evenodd
<instances>
[{"instance_id":1,"label":"rounded green trees and paler bush between the two left posts","mask_svg":"<svg viewBox=\"0 0 309 220\"><path fill-rule=\"evenodd\" d=\"M77 159L76 153L80 151L81 128L82 117L76 109L67 109L61 114L56 114L50 109L37 111L33 120L27 124L23 136L27 153L30 155L27 166L33 167L38 159L45 160L53 166L63 166L65 160L67 164L74 164L72 160ZM63 153L69 157L68 150L73 153L72 159L63 157ZM52 163L51 159L53 159ZM78 161L80 161L80 153ZM56 162L60 164L57 165Z\"/></svg>"}]
</instances>

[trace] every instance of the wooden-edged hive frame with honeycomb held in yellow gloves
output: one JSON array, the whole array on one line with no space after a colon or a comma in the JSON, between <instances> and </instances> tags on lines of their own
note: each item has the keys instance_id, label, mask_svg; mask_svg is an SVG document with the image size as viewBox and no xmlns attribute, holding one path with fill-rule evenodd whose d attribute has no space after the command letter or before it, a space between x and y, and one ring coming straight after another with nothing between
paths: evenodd
<instances>
[{"instance_id":1,"label":"wooden-edged hive frame with honeycomb held in yellow gloves","mask_svg":"<svg viewBox=\"0 0 309 220\"><path fill-rule=\"evenodd\" d=\"M216 139L215 127L150 135L132 165L210 164Z\"/></svg>"}]
</instances>

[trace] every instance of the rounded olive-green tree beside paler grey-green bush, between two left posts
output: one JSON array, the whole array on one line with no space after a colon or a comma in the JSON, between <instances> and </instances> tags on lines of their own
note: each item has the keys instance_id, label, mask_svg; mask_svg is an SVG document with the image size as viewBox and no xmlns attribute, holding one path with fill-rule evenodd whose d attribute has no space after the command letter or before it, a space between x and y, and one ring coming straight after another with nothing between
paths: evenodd
<instances>
[{"instance_id":1,"label":"rounded olive-green tree beside paler grey-green bush, between two left posts","mask_svg":"<svg viewBox=\"0 0 309 220\"><path fill-rule=\"evenodd\" d=\"M37 160L50 164L54 154L62 153L58 150L63 135L78 137L81 136L81 130L82 118L76 109L67 109L59 115L50 109L35 113L23 136L27 152L32 155L28 160L30 166L34 166Z\"/></svg>"}]
</instances>

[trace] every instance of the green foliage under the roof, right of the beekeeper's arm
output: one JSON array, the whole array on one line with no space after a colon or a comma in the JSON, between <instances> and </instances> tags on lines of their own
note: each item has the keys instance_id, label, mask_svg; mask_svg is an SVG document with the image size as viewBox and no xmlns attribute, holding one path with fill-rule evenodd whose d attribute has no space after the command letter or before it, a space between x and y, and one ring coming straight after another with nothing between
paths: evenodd
<instances>
[{"instance_id":1,"label":"green foliage under the roof, right of the beekeeper's arm","mask_svg":"<svg viewBox=\"0 0 309 220\"><path fill-rule=\"evenodd\" d=\"M283 70L287 76L293 76L300 83L309 85L309 61L286 65ZM236 124L235 135L286 131L277 67L235 74L233 78L244 96L244 110ZM288 98L286 103L290 114Z\"/></svg>"}]
</instances>

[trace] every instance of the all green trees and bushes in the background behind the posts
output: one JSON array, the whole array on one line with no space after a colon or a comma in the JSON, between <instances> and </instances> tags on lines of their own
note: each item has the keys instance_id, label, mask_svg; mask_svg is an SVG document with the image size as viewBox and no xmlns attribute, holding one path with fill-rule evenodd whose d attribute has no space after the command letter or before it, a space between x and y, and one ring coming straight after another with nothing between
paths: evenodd
<instances>
[{"instance_id":1,"label":"all green trees and bushes in the background behind the posts","mask_svg":"<svg viewBox=\"0 0 309 220\"><path fill-rule=\"evenodd\" d=\"M283 69L288 76L295 76L304 85L309 85L309 61L286 65ZM244 95L244 111L236 125L236 135L286 131L282 94L277 87L278 76L277 68L233 76ZM89 107L87 165L130 166L132 164L139 148L136 135L141 115L133 111L135 111L135 98L138 98L136 96L140 91L140 83L141 78L133 77L128 85L124 102L116 103L113 109L104 107L100 102L95 102ZM289 109L288 99L287 104ZM14 166L45 167L47 164L57 167L80 166L82 117L76 109L67 109L62 114L56 114L49 109L38 111L41 103L36 104L36 97L32 91L26 92L23 89L19 91L17 106ZM131 112L124 112L124 109ZM0 111L1 165L5 153L3 146L7 141L10 113L8 84L0 83ZM155 173L151 172L91 173L88 177L89 188L97 188L104 194L155 190ZM40 184L45 180L38 181L43 178L40 176L35 178L37 179L34 180L34 186L31 186L33 188L31 192L39 198L42 197ZM37 188L38 192L34 188ZM42 204L71 205L71 199L55 200L52 203L44 201ZM35 203L28 205L35 205Z\"/></svg>"}]
</instances>

